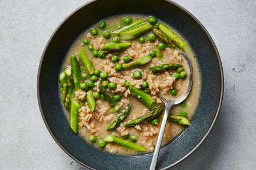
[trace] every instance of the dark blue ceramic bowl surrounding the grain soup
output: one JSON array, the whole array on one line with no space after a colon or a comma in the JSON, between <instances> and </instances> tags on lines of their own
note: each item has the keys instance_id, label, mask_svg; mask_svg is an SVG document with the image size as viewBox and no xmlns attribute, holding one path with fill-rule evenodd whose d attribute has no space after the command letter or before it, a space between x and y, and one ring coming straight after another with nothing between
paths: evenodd
<instances>
[{"instance_id":1,"label":"dark blue ceramic bowl surrounding the grain soup","mask_svg":"<svg viewBox=\"0 0 256 170\"><path fill-rule=\"evenodd\" d=\"M157 169L166 169L184 160L206 138L218 115L223 95L222 64L212 38L191 13L176 3L163 0L91 1L69 15L49 39L38 69L37 96L42 118L56 143L70 157L88 168L150 167L152 153L138 156L108 154L84 142L69 127L59 99L58 75L69 47L91 24L119 13L142 13L166 21L190 42L200 64L200 103L191 125L179 138L161 149Z\"/></svg>"}]
</instances>

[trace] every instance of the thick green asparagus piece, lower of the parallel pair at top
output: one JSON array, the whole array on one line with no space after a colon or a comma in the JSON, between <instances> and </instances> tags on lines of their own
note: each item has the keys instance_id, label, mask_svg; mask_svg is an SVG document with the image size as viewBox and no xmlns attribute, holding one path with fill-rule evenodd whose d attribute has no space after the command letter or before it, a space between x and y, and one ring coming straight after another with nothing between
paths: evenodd
<instances>
[{"instance_id":1,"label":"thick green asparagus piece, lower of the parallel pair at top","mask_svg":"<svg viewBox=\"0 0 256 170\"><path fill-rule=\"evenodd\" d=\"M130 40L150 31L152 27L153 26L151 24L143 23L134 28L131 28L130 30L122 32L121 34L119 34L119 38L124 40Z\"/></svg>"}]
</instances>

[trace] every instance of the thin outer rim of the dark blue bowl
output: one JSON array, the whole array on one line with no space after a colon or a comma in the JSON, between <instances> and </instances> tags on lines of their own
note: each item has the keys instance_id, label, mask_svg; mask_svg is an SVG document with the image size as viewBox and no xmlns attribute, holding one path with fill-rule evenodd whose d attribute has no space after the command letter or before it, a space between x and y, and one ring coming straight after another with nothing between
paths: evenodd
<instances>
[{"instance_id":1,"label":"thin outer rim of the dark blue bowl","mask_svg":"<svg viewBox=\"0 0 256 170\"><path fill-rule=\"evenodd\" d=\"M83 5L79 6L79 8L73 10L72 13L70 13L59 25L58 27L54 30L54 32L52 33L51 37L49 38L47 44L45 45L45 48L44 48L44 51L42 52L42 56L41 56L41 59L40 59L40 64L39 64L39 67L38 67L38 71L37 71L37 100L38 100L38 105L39 105L39 108L40 108L40 112L41 112L41 115L42 115L42 119L44 120L44 124L45 126L47 127L49 133L51 134L52 138L54 138L55 142L59 145L59 147L61 147L61 149L63 151L65 151L65 153L67 155L69 155L73 160L79 162L79 164L83 165L84 167L87 167L89 169L94 169L86 164L84 164L84 162L81 162L80 160L77 160L77 158L75 158L72 154L69 153L69 151L67 151L63 146L62 144L58 141L58 139L55 138L54 136L54 133L52 133L51 129L49 128L49 125L45 119L45 116L44 116L44 113L42 111L42 106L41 106L41 100L40 100L40 93L39 93L39 84L40 84L40 73L41 73L41 67L42 67L42 61L44 60L44 56L45 56L45 53L48 49L48 46L49 46L49 43L52 41L52 38L54 37L54 35L56 34L56 32L59 30L59 28L72 16L74 15L74 13L78 12L80 9L84 8L84 6L87 6L89 5L90 3L93 3L97 0L91 0L87 3L84 3ZM170 167L173 167L177 164L179 164L179 162L185 160L187 157L189 157L189 155L191 155L200 145L202 142L204 142L204 140L207 138L207 136L209 135L209 132L211 131L211 129L213 128L214 124L215 124L215 121L218 117L218 114L219 114L219 111L221 109L221 105L222 105L222 100L223 100L223 88L224 88L224 76L223 76L223 67L222 67L222 62L221 62L221 57L219 56L219 52L218 52L218 49L216 48L216 45L211 37L211 35L209 34L209 32L206 30L206 28L202 25L202 23L194 16L192 15L187 9L183 8L182 6L180 6L179 4L177 4L176 2L173 2L173 1L170 1L170 0L163 0L163 1L166 1L166 2L169 2L171 3L172 5L176 6L177 8L183 10L183 12L187 13L187 15L189 15L191 18L193 18L197 24L202 28L202 30L205 32L205 34L207 35L207 37L209 38L209 40L211 41L211 44L212 46L214 47L214 50L215 50L215 53L216 53L216 56L217 56L217 59L218 59L218 62L219 62L219 68L220 68L220 72L221 72L221 95L219 97L219 105L218 105L218 109L216 111L216 114L215 114L215 117L214 117L214 120L212 121L212 124L211 126L209 127L207 133L205 133L204 135L204 138L201 139L201 141L194 147L194 149L192 149L189 153L187 153L186 155L184 155L184 157L180 158L180 160L174 162L173 164L169 165L168 167L165 167L165 168L162 168L162 169L168 169Z\"/></svg>"}]
</instances>

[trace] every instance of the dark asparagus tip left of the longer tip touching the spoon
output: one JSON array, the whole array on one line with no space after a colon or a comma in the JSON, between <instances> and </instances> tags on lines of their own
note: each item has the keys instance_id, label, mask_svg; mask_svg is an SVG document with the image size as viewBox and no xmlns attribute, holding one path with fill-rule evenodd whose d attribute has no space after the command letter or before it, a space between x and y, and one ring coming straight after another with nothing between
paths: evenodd
<instances>
[{"instance_id":1,"label":"dark asparagus tip left of the longer tip touching the spoon","mask_svg":"<svg viewBox=\"0 0 256 170\"><path fill-rule=\"evenodd\" d=\"M126 116L130 113L131 106L127 106L121 113L116 115L116 118L111 122L111 124L106 128L107 131L115 130L123 120L125 120Z\"/></svg>"}]
</instances>

